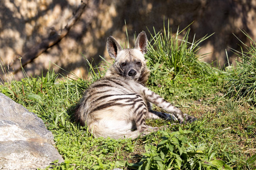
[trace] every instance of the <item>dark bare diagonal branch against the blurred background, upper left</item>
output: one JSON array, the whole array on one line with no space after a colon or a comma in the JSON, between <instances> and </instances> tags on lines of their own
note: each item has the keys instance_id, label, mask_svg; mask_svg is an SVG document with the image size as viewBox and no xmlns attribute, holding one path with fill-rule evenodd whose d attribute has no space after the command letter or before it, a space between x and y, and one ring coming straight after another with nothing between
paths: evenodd
<instances>
[{"instance_id":1,"label":"dark bare diagonal branch against the blurred background, upper left","mask_svg":"<svg viewBox=\"0 0 256 170\"><path fill-rule=\"evenodd\" d=\"M65 25L64 29L60 29L59 31L54 32L54 36L52 36L52 33L48 36L47 39L43 40L39 45L36 45L34 48L31 48L31 50L27 53L25 53L23 56L21 56L22 60L22 66L20 66L19 62L16 62L14 67L13 74L18 73L22 69L22 67L26 66L28 63L32 62L35 58L39 57L40 54L46 52L48 48L51 48L53 45L56 45L58 42L61 41L65 36L67 36L69 30L77 20L81 17L82 13L84 12L84 9L86 7L85 0L81 1L80 6L77 8L75 14L73 17L68 21L67 25ZM16 68L16 69L15 69Z\"/></svg>"}]
</instances>

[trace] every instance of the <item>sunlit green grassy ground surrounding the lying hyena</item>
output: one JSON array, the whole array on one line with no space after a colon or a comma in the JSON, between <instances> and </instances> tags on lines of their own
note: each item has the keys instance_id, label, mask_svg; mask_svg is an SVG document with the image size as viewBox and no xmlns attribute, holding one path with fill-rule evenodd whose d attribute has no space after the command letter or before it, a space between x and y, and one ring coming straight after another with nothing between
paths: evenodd
<instances>
[{"instance_id":1,"label":"sunlit green grassy ground surrounding the lying hyena","mask_svg":"<svg viewBox=\"0 0 256 170\"><path fill-rule=\"evenodd\" d=\"M3 83L0 91L42 118L52 131L55 147L65 160L52 169L255 169L256 111L243 97L236 100L226 95L230 93L226 84L234 74L200 62L199 41L187 42L188 33L182 40L171 36L169 29L151 36L148 87L184 113L198 117L193 124L147 120L148 125L167 128L134 141L92 137L73 118L82 92L104 74L92 65L90 80L66 79L49 70L46 76ZM173 50L166 41L174 45ZM161 43L167 45L163 48ZM193 50L191 44L197 44ZM174 60L164 58L166 54Z\"/></svg>"}]
</instances>

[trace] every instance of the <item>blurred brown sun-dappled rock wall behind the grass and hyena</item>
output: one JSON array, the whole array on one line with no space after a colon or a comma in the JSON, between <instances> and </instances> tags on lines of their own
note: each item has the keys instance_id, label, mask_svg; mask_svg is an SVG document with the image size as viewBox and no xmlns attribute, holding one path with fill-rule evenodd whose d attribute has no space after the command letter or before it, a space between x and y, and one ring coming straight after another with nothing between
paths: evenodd
<instances>
[{"instance_id":1,"label":"blurred brown sun-dappled rock wall behind the grass and hyena","mask_svg":"<svg viewBox=\"0 0 256 170\"><path fill-rule=\"evenodd\" d=\"M169 21L172 32L177 28L190 26L193 40L214 33L201 44L199 54L209 53L204 61L214 66L234 63L236 55L230 48L240 50L240 41L246 42L246 31L253 39L256 37L256 1L249 0L88 0L79 20L71 27L67 36L47 48L38 57L33 57L24 66L27 75L41 75L49 68L61 74L72 71L78 76L86 76L86 61L99 56L109 59L106 52L106 39L114 36L118 41L126 41L126 28L130 45L134 43L134 33L146 31L148 39L153 32L163 29ZM0 59L2 72L9 73L10 79L19 80L24 75L20 62L28 61L26 53L42 44L44 40L54 39L64 29L81 1L75 0L1 0L0 2ZM126 22L126 25L125 25ZM233 35L234 33L234 35ZM30 56L31 57L31 56ZM55 63L57 66L53 65ZM11 74L10 74L11 73ZM15 74L14 74L15 73Z\"/></svg>"}]
</instances>

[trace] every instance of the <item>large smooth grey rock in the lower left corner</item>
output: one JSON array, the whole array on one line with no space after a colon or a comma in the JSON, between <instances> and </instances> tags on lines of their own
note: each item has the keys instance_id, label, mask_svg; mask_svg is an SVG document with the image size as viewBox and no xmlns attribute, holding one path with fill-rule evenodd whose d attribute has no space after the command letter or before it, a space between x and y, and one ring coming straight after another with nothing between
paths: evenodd
<instances>
[{"instance_id":1,"label":"large smooth grey rock in the lower left corner","mask_svg":"<svg viewBox=\"0 0 256 170\"><path fill-rule=\"evenodd\" d=\"M0 93L0 169L46 168L63 158L44 122Z\"/></svg>"}]
</instances>

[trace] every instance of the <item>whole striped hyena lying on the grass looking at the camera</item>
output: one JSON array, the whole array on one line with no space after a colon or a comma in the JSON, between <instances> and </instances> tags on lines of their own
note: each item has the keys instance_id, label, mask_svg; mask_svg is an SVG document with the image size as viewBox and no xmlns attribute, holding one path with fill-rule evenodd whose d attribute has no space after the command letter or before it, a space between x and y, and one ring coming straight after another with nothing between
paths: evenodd
<instances>
[{"instance_id":1,"label":"whole striped hyena lying on the grass looking at the camera","mask_svg":"<svg viewBox=\"0 0 256 170\"><path fill-rule=\"evenodd\" d=\"M104 78L85 91L75 112L76 120L87 125L95 137L134 139L159 129L147 126L146 118L175 119L180 124L196 120L145 87L149 74L144 58L145 32L138 35L134 49L122 49L112 36L108 38L107 49L110 57L115 58L114 64ZM152 111L148 103L173 116Z\"/></svg>"}]
</instances>

